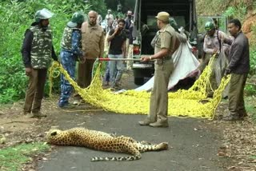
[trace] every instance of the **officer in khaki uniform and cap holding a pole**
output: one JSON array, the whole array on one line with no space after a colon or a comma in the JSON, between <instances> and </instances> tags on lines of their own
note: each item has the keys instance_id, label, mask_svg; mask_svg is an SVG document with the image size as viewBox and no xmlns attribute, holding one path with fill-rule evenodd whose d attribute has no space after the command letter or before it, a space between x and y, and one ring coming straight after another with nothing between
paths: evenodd
<instances>
[{"instance_id":1,"label":"officer in khaki uniform and cap holding a pole","mask_svg":"<svg viewBox=\"0 0 256 171\"><path fill-rule=\"evenodd\" d=\"M158 13L158 38L155 40L154 55L142 57L143 62L156 59L154 62L154 86L150 97L150 113L146 120L139 121L139 125L152 127L168 127L168 82L174 70L172 54L178 47L175 30L169 24L170 14Z\"/></svg>"}]
</instances>

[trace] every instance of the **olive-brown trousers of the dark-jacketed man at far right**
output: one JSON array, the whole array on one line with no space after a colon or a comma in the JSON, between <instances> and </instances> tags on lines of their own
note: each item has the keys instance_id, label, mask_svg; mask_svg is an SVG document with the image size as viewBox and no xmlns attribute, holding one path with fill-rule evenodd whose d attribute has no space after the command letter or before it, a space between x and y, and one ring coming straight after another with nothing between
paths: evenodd
<instances>
[{"instance_id":1,"label":"olive-brown trousers of the dark-jacketed man at far right","mask_svg":"<svg viewBox=\"0 0 256 171\"><path fill-rule=\"evenodd\" d=\"M243 116L246 113L243 89L246 85L247 74L231 74L229 89L230 114Z\"/></svg>"}]
</instances>

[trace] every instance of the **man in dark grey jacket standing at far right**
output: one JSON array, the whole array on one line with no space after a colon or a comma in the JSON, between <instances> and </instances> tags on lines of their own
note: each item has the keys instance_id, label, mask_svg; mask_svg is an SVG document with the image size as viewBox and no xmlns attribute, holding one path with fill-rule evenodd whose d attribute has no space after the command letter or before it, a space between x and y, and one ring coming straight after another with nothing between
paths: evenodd
<instances>
[{"instance_id":1,"label":"man in dark grey jacket standing at far right","mask_svg":"<svg viewBox=\"0 0 256 171\"><path fill-rule=\"evenodd\" d=\"M223 119L238 121L247 116L243 90L246 85L247 75L250 71L250 50L246 35L242 33L242 25L238 19L230 20L228 30L234 37L230 47L229 65L225 75L231 74L229 89L229 114Z\"/></svg>"}]
</instances>

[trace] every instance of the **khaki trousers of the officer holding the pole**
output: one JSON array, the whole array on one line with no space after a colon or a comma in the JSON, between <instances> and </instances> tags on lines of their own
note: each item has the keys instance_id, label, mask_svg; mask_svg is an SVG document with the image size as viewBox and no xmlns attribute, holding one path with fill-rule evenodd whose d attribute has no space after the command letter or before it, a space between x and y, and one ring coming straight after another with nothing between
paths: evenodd
<instances>
[{"instance_id":1,"label":"khaki trousers of the officer holding the pole","mask_svg":"<svg viewBox=\"0 0 256 171\"><path fill-rule=\"evenodd\" d=\"M158 60L162 61L162 60ZM150 113L147 120L167 121L168 114L168 83L170 74L174 70L171 59L154 63L154 85L150 96Z\"/></svg>"}]
</instances>

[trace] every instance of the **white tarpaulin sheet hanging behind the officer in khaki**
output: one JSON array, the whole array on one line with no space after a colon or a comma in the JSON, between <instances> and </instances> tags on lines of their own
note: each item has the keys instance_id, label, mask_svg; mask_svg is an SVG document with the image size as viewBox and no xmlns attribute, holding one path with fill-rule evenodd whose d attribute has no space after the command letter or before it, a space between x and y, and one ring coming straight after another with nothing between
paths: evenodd
<instances>
[{"instance_id":1,"label":"white tarpaulin sheet hanging behind the officer in khaki","mask_svg":"<svg viewBox=\"0 0 256 171\"><path fill-rule=\"evenodd\" d=\"M168 89L171 89L178 83L179 80L182 80L188 75L196 70L199 66L198 59L194 57L190 50L191 46L189 42L181 43L173 54L174 59L174 71L170 75L170 81L168 85ZM153 88L154 84L154 77L150 78L148 82L144 85L139 86L137 89L138 91L146 90L149 91Z\"/></svg>"}]
</instances>

